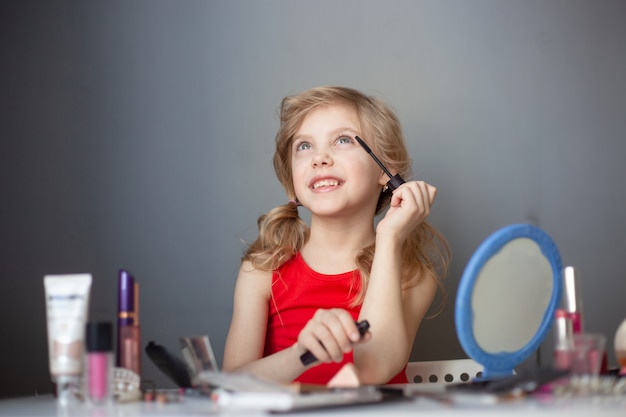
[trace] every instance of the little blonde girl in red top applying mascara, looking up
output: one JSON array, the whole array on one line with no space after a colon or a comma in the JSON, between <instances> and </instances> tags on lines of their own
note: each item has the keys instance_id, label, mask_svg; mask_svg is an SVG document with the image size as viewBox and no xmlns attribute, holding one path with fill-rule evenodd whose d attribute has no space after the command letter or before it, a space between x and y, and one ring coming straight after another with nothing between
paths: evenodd
<instances>
[{"instance_id":1,"label":"little blonde girl in red top applying mascara, looking up","mask_svg":"<svg viewBox=\"0 0 626 417\"><path fill-rule=\"evenodd\" d=\"M363 384L407 382L449 248L425 221L435 187L410 181L391 192L356 136L392 175L409 178L400 123L381 101L343 87L283 99L274 169L288 203L259 218L243 257L225 371L326 384L353 363ZM370 324L364 336L359 320ZM317 361L305 365L306 351Z\"/></svg>"}]
</instances>

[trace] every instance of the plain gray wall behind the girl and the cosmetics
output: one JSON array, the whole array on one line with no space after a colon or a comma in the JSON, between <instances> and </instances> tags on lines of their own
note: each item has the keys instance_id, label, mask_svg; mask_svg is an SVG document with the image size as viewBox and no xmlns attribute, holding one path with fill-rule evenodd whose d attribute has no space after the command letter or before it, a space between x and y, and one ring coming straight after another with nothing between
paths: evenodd
<instances>
[{"instance_id":1,"label":"plain gray wall behind the girl and the cosmetics","mask_svg":"<svg viewBox=\"0 0 626 417\"><path fill-rule=\"evenodd\" d=\"M532 222L582 273L585 325L626 318L622 1L0 3L0 395L50 392L42 279L90 272L115 318L141 283L143 340L207 333L221 362L286 95L348 85L391 103L454 260L413 359L464 357L465 263ZM615 364L610 351L609 359ZM144 379L171 386L144 357Z\"/></svg>"}]
</instances>

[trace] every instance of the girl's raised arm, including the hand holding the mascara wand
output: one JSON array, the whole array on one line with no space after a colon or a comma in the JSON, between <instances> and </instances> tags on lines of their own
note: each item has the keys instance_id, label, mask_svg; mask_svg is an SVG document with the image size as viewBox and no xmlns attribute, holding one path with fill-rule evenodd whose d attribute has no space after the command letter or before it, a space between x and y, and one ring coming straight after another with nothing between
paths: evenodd
<instances>
[{"instance_id":1,"label":"girl's raised arm, including the hand holding the mascara wand","mask_svg":"<svg viewBox=\"0 0 626 417\"><path fill-rule=\"evenodd\" d=\"M401 248L408 233L430 212L436 189L424 182L403 184L376 229L376 252L360 319L370 322L369 343L354 348L363 383L385 383L408 361L420 322L437 291L431 274L402 290Z\"/></svg>"}]
</instances>

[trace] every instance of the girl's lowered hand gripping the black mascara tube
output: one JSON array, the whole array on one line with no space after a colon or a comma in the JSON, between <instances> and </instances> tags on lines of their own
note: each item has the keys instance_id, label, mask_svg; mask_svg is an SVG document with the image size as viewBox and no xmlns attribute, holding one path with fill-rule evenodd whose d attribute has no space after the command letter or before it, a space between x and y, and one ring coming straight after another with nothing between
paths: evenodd
<instances>
[{"instance_id":1,"label":"girl's lowered hand gripping the black mascara tube","mask_svg":"<svg viewBox=\"0 0 626 417\"><path fill-rule=\"evenodd\" d=\"M341 362L355 343L367 341L370 337L369 332L361 337L354 319L346 310L319 309L300 331L296 349L298 356L310 351L318 362Z\"/></svg>"}]
</instances>

